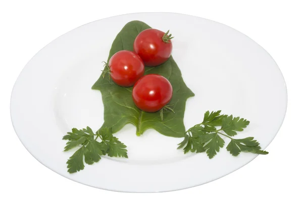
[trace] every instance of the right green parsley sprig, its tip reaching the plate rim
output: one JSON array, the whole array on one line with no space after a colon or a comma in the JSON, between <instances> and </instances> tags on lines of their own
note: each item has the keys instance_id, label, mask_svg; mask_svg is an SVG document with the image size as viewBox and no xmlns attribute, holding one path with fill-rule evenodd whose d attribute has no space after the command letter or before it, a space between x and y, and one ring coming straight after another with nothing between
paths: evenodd
<instances>
[{"instance_id":1,"label":"right green parsley sprig, its tip reaching the plate rim","mask_svg":"<svg viewBox=\"0 0 303 202\"><path fill-rule=\"evenodd\" d=\"M237 131L243 131L249 124L246 119L233 117L232 115L220 115L221 111L209 112L204 115L202 123L194 125L185 132L185 137L178 145L183 148L184 154L202 153L206 151L207 156L212 159L223 148L225 141L221 136L228 137L231 141L226 149L232 156L238 156L241 151L254 154L267 155L268 152L261 150L260 144L254 137L234 139ZM217 128L220 127L221 128ZM224 133L223 133L224 132Z\"/></svg>"}]
</instances>

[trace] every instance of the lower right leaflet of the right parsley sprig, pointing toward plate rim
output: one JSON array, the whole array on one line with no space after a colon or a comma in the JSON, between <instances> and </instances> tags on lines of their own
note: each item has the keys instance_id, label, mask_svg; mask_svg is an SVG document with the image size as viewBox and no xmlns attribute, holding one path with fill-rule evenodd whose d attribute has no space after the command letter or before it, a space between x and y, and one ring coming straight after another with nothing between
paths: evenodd
<instances>
[{"instance_id":1,"label":"lower right leaflet of the right parsley sprig, pointing toward plate rim","mask_svg":"<svg viewBox=\"0 0 303 202\"><path fill-rule=\"evenodd\" d=\"M261 150L259 145L259 142L254 137L246 137L244 139L231 139L226 149L232 156L238 156L241 151L267 155L268 152Z\"/></svg>"}]
</instances>

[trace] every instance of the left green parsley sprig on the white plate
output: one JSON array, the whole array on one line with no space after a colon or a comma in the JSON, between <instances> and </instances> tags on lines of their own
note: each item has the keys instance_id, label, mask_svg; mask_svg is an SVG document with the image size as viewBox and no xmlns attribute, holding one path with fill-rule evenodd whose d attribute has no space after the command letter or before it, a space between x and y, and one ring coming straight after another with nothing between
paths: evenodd
<instances>
[{"instance_id":1,"label":"left green parsley sprig on the white plate","mask_svg":"<svg viewBox=\"0 0 303 202\"><path fill-rule=\"evenodd\" d=\"M97 141L98 138L101 141ZM88 165L98 162L101 156L106 154L109 157L128 158L126 145L113 136L111 128L103 128L98 130L96 134L88 126L82 130L73 128L72 132L68 132L63 139L69 140L64 151L81 146L67 161L69 173L84 169L83 156Z\"/></svg>"}]
</instances>

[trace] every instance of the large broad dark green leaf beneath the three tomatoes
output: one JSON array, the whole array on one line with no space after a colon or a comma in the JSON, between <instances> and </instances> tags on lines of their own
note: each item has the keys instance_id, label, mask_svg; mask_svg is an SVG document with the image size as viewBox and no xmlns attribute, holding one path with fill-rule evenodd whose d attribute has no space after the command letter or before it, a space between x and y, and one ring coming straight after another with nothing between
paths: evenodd
<instances>
[{"instance_id":1,"label":"large broad dark green leaf beneath the three tomatoes","mask_svg":"<svg viewBox=\"0 0 303 202\"><path fill-rule=\"evenodd\" d=\"M133 51L135 37L143 30L150 28L140 21L127 23L115 38L109 59L118 51ZM167 78L173 86L172 111L163 112L163 120L159 113L146 113L139 110L132 100L132 87L121 87L109 82L109 74L104 74L92 86L92 89L100 90L104 105L104 127L112 127L117 132L127 123L136 126L136 134L141 135L148 128L153 128L159 133L172 136L184 137L185 127L183 123L186 100L194 96L194 93L183 81L181 71L172 57L158 67L145 67L145 74L160 74ZM104 78L104 77L105 78Z\"/></svg>"}]
</instances>

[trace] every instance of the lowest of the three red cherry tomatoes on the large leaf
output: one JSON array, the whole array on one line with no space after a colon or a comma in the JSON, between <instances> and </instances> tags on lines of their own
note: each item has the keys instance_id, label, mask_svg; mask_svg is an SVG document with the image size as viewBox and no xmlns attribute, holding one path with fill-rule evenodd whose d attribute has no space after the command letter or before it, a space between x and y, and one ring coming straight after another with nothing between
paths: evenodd
<instances>
[{"instance_id":1,"label":"lowest of the three red cherry tomatoes on the large leaf","mask_svg":"<svg viewBox=\"0 0 303 202\"><path fill-rule=\"evenodd\" d=\"M166 106L173 95L171 83L158 74L148 74L134 85L132 97L135 105L144 112L157 112Z\"/></svg>"}]
</instances>

